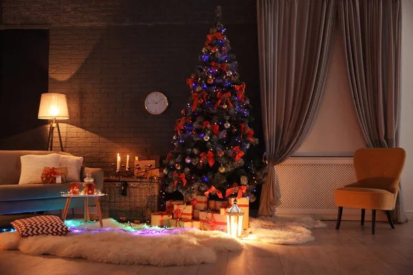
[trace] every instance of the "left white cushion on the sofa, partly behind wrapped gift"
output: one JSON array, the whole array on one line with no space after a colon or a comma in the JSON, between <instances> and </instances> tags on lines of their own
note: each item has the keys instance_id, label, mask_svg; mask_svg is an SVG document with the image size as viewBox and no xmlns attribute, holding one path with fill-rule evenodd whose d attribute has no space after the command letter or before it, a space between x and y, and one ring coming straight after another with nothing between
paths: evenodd
<instances>
[{"instance_id":1,"label":"left white cushion on the sofa, partly behind wrapped gift","mask_svg":"<svg viewBox=\"0 0 413 275\"><path fill-rule=\"evenodd\" d=\"M19 184L41 184L41 173L45 167L59 166L61 155L22 155Z\"/></svg>"}]
</instances>

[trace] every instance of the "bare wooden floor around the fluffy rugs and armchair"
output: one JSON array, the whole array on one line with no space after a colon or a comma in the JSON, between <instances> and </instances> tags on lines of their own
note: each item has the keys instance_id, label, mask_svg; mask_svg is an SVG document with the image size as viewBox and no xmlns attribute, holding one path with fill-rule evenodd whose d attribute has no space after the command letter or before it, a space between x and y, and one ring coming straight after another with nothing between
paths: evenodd
<instances>
[{"instance_id":1,"label":"bare wooden floor around the fluffy rugs and armchair","mask_svg":"<svg viewBox=\"0 0 413 275\"><path fill-rule=\"evenodd\" d=\"M302 245L270 245L246 241L242 252L218 254L214 264L185 267L112 265L55 256L28 256L17 251L0 252L0 274L413 274L413 223L342 221L341 229L313 230L315 241Z\"/></svg>"}]
</instances>

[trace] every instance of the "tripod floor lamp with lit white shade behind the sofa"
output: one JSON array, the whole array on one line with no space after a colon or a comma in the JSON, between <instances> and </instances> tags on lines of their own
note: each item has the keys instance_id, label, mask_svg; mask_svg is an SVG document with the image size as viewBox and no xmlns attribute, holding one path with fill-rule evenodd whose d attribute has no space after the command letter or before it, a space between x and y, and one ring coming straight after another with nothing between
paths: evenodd
<instances>
[{"instance_id":1,"label":"tripod floor lamp with lit white shade behind the sofa","mask_svg":"<svg viewBox=\"0 0 413 275\"><path fill-rule=\"evenodd\" d=\"M47 150L53 151L53 132L56 128L59 135L61 151L63 152L59 122L56 122L56 120L69 119L69 109L67 109L66 95L55 93L41 94L39 115L37 115L37 118L39 118L39 120L52 120L52 122L50 122Z\"/></svg>"}]
</instances>

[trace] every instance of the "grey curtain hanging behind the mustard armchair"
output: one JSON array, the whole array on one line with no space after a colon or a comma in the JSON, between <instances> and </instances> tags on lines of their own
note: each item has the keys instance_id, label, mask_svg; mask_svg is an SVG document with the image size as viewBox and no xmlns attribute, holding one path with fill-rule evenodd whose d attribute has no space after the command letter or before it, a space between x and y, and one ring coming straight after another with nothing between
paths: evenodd
<instances>
[{"instance_id":1,"label":"grey curtain hanging behind the mustard armchair","mask_svg":"<svg viewBox=\"0 0 413 275\"><path fill-rule=\"evenodd\" d=\"M338 11L363 137L368 147L396 147L400 113L400 0L339 0ZM405 222L401 189L394 214L397 221Z\"/></svg>"}]
</instances>

